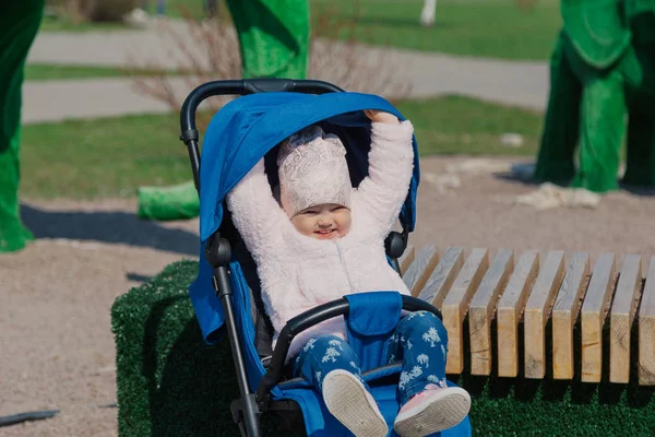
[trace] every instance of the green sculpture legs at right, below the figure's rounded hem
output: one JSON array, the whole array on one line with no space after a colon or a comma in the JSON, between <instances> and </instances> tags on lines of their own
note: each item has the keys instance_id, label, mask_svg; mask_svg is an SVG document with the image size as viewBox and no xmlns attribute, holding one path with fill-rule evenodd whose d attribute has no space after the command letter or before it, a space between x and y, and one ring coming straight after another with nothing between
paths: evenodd
<instances>
[{"instance_id":1,"label":"green sculpture legs at right, below the figure's rounded hem","mask_svg":"<svg viewBox=\"0 0 655 437\"><path fill-rule=\"evenodd\" d=\"M620 152L628 130L624 181L655 184L651 56L631 47L615 66L599 70L584 62L567 35L560 35L550 61L537 181L595 192L618 189Z\"/></svg>"}]
</instances>

